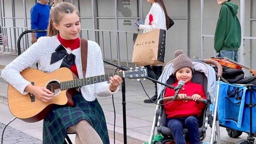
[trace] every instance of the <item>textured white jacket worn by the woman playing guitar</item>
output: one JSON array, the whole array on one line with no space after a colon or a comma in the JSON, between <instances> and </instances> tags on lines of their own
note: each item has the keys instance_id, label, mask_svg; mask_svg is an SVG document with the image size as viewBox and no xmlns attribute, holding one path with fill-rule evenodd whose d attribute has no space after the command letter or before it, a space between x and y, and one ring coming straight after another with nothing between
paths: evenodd
<instances>
[{"instance_id":1,"label":"textured white jacket worn by the woman playing guitar","mask_svg":"<svg viewBox=\"0 0 256 144\"><path fill-rule=\"evenodd\" d=\"M1 76L4 80L10 83L15 89L17 89L21 94L28 94L24 91L28 84L31 84L25 80L20 72L26 68L31 67L36 62L39 64L38 69L40 71L51 73L60 68L63 61L57 61L50 65L51 54L55 52L55 49L60 45L57 36L52 37L40 37L36 43L28 48L24 53L17 57L14 61L8 64L2 71ZM82 66L80 57L80 48L77 48L70 52L68 49L67 53L74 54L75 64L77 66L78 77L82 78ZM87 58L87 68L85 77L92 77L104 75L104 66L102 53L99 45L96 42L88 40L88 58ZM114 92L111 92L110 84L107 82L100 82L96 84L90 84L81 87L81 92L85 100L94 101L97 96L110 96L119 90L119 87Z\"/></svg>"}]
</instances>

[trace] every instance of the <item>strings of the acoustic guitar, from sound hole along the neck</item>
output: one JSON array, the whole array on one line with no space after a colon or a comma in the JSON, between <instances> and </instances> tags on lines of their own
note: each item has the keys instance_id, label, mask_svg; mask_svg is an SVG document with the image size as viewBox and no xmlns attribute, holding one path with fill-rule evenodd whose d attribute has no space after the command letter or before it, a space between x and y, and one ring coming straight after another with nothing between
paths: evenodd
<instances>
[{"instance_id":1,"label":"strings of the acoustic guitar, from sound hole along the neck","mask_svg":"<svg viewBox=\"0 0 256 144\"><path fill-rule=\"evenodd\" d=\"M134 70L134 71L135 71L135 70ZM134 72L134 71L131 71L131 72ZM73 86L74 86L74 85L78 85L78 87L79 87L79 83L81 83L82 81L83 81L83 84L85 84L85 80L86 80L86 83L87 83L87 80L88 80L89 83L90 83L91 80L93 80L93 81L98 81L98 80L101 80L102 77L104 77L104 81L107 81L106 78L105 78L106 76L114 76L114 75L116 75L116 74L119 75L119 73L122 74L122 72L116 72L116 73L105 74L105 75L100 75L100 76L93 76L93 77L90 77L90 78L76 79L76 80L71 80L71 81L61 82L61 83L63 83L64 85L74 83ZM127 72L124 72L124 73L130 73L130 71L127 71ZM131 75L136 75L136 74L131 74ZM96 77L96 79L95 79L94 77ZM99 78L98 78L98 77L99 77ZM122 75L121 75L121 77L122 77ZM108 80L109 80L109 77L108 77ZM76 82L76 81L77 81L77 82ZM80 84L80 85L81 85L81 84ZM86 85L87 85L87 84L86 84ZM49 85L46 86L47 89L59 89L60 87L61 87L61 84L60 84L60 83L53 83L53 84L49 84Z\"/></svg>"}]
</instances>

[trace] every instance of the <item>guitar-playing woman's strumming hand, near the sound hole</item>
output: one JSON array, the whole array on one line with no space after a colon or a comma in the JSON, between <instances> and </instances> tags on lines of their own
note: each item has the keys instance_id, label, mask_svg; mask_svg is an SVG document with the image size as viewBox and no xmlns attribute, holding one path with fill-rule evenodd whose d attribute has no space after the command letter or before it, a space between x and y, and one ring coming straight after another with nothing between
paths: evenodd
<instances>
[{"instance_id":1,"label":"guitar-playing woman's strumming hand, near the sound hole","mask_svg":"<svg viewBox=\"0 0 256 144\"><path fill-rule=\"evenodd\" d=\"M32 93L36 98L48 102L51 99L53 99L54 93L50 90L46 89L45 87L39 87L39 86L33 86L32 84L29 84L25 91Z\"/></svg>"}]
</instances>

